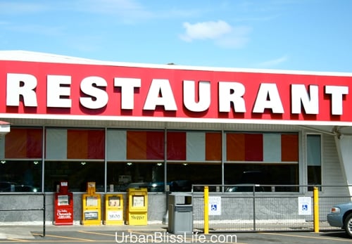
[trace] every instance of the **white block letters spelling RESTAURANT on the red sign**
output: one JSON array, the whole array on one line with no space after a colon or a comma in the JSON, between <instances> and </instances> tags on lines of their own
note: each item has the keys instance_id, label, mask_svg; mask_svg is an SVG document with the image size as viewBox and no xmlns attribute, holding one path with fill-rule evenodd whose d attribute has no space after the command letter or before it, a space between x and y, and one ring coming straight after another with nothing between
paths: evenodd
<instances>
[{"instance_id":1,"label":"white block letters spelling RESTAURANT on the red sign","mask_svg":"<svg viewBox=\"0 0 352 244\"><path fill-rule=\"evenodd\" d=\"M134 88L141 86L141 79L115 77L115 86L121 87L121 108L134 109ZM37 94L34 89L37 79L28 74L8 74L6 89L6 105L20 105L20 96L25 106L37 106ZM48 75L47 106L51 108L70 108L71 79L69 76ZM101 77L82 79L80 91L89 97L80 97L80 105L84 108L103 108L108 104L108 94L103 90L108 86ZM199 82L198 101L196 99L196 82L184 80L184 106L192 112L202 112L210 106L210 82ZM319 113L318 86L310 85L309 91L303 84L291 85L291 113L301 113L301 105L307 114ZM246 112L244 101L245 86L239 82L219 82L219 111L230 112L231 106L237 113ZM348 86L325 86L325 94L331 95L332 115L342 114L343 96L348 94ZM153 79L144 103L144 110L156 110L161 105L165 110L177 110L172 87L168 79ZM284 113L284 108L276 84L260 84L253 113L263 113L265 109L272 113Z\"/></svg>"}]
</instances>

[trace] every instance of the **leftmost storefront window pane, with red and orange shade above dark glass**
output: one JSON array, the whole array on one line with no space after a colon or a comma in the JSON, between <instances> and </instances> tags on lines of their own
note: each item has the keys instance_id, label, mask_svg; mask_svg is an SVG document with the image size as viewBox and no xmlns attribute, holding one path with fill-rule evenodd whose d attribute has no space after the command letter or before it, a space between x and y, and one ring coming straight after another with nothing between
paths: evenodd
<instances>
[{"instance_id":1,"label":"leftmost storefront window pane, with red and orange shade above dark glass","mask_svg":"<svg viewBox=\"0 0 352 244\"><path fill-rule=\"evenodd\" d=\"M12 127L0 145L0 191L42 191L43 129Z\"/></svg>"}]
</instances>

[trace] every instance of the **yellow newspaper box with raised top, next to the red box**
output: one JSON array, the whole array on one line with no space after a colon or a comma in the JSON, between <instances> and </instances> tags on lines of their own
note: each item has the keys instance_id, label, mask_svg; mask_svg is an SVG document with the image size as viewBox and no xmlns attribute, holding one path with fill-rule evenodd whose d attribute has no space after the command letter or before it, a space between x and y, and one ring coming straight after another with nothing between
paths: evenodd
<instances>
[{"instance_id":1,"label":"yellow newspaper box with raised top, next to the red box","mask_svg":"<svg viewBox=\"0 0 352 244\"><path fill-rule=\"evenodd\" d=\"M95 182L88 182L87 194L82 195L82 224L101 224L101 198L95 193Z\"/></svg>"}]
</instances>

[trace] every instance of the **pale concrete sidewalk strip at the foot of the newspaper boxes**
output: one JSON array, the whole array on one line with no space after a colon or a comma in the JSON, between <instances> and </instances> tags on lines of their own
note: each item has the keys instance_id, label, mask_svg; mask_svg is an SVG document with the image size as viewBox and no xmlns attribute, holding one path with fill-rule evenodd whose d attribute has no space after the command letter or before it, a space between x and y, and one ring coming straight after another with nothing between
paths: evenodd
<instances>
[{"instance_id":1,"label":"pale concrete sidewalk strip at the foot of the newspaper boxes","mask_svg":"<svg viewBox=\"0 0 352 244\"><path fill-rule=\"evenodd\" d=\"M4 225L0 226L0 239L34 239L32 231L43 233L42 225ZM168 225L165 224L148 224L146 226L132 225L100 225L84 226L74 224L70 226L55 226L48 224L45 226L45 232L51 231L141 231L141 232L161 232L168 231Z\"/></svg>"}]
</instances>

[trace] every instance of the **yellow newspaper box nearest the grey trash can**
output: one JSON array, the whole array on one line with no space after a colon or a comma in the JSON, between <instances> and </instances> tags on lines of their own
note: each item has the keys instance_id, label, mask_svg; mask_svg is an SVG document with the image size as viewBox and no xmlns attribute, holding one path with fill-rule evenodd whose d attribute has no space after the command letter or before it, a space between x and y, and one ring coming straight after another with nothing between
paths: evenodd
<instances>
[{"instance_id":1,"label":"yellow newspaper box nearest the grey trash can","mask_svg":"<svg viewBox=\"0 0 352 244\"><path fill-rule=\"evenodd\" d=\"M146 188L129 188L127 193L126 224L146 225L148 222L148 192Z\"/></svg>"}]
</instances>

